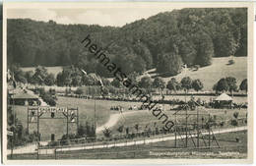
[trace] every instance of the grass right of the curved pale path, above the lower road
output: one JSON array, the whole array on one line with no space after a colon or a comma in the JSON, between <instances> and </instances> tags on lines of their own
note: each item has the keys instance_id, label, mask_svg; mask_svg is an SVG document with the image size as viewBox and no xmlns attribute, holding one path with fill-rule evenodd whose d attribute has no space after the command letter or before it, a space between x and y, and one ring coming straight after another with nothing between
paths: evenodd
<instances>
[{"instance_id":1,"label":"grass right of the curved pale path, above the lower road","mask_svg":"<svg viewBox=\"0 0 256 166\"><path fill-rule=\"evenodd\" d=\"M201 110L199 111L199 114L209 114L211 116L215 116L216 115L216 121L217 122L222 122L225 121L225 127L231 127L230 122L227 122L228 120L233 119L233 113L234 112L239 112L239 117L238 118L245 118L246 117L246 113L247 110L246 109L228 109L226 110L226 113L224 113L224 110L221 109L209 109L209 110ZM180 114L185 114L185 111L180 111ZM192 114L196 114L196 111L189 111L189 113ZM174 111L164 111L164 114L167 115L167 117L172 121L175 122L175 117L174 117ZM199 123L201 124L202 122L202 117L205 118L205 121L207 121L208 119L208 115L204 115L204 116L199 116ZM183 116L176 116L177 119L177 123L181 124L181 123L185 123L185 118L184 115ZM196 115L191 115L188 118L188 123L189 122L196 122ZM156 124L155 124L156 123ZM205 122L204 122L205 123ZM139 111L138 113L135 114L128 114L126 116L122 116L122 118L120 118L120 120L118 121L118 123L111 128L112 130L112 134L117 135L120 134L117 129L119 126L124 126L124 127L129 127L130 128L130 133L136 133L136 129L135 129L135 125L138 124L139 125L139 131L144 131L147 128L151 128L152 130L155 130L156 127L158 127L159 129L161 127L163 127L162 124L162 120L159 120L157 117L152 115L152 112L150 111ZM214 127L213 127L214 128ZM123 132L124 134L124 132Z\"/></svg>"}]
</instances>

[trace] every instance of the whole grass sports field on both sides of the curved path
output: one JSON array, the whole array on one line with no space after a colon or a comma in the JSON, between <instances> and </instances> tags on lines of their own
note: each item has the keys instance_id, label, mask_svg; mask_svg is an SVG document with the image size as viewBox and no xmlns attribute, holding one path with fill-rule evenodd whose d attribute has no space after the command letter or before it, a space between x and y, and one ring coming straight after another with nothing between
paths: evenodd
<instances>
[{"instance_id":1,"label":"whole grass sports field on both sides of the curved path","mask_svg":"<svg viewBox=\"0 0 256 166\"><path fill-rule=\"evenodd\" d=\"M246 98L246 97L243 97ZM114 125L111 130L112 134L119 134L117 132L117 128L121 125L125 127L131 128L131 132L135 132L134 126L139 124L139 130L144 130L145 126L153 128L155 122L159 127L162 126L161 121L158 118L152 115L152 112L148 110L144 111L133 111L131 114L125 114L128 108L133 105L137 105L137 107L141 106L141 102L122 102L122 101L107 101L107 100L96 100L96 126L99 127L105 124L111 114L119 114L119 111L110 111L111 106L121 105L124 107L124 113L121 114L120 119ZM85 124L89 122L90 124L94 124L94 116L95 116L95 101L87 100L82 98L72 98L72 97L58 97L57 106L61 107L74 107L79 108L79 122L80 124ZM27 128L27 108L26 106L14 106L17 118L22 122L24 128ZM169 105L164 105L164 110L168 110L170 108ZM219 110L219 109L207 109L202 110L202 113L211 113L211 115L217 115L217 120L228 120L233 118L233 112L239 112L239 118L245 117L246 110ZM224 112L226 112L224 114ZM168 117L174 121L173 111L164 111ZM196 113L196 111L191 111L191 113ZM50 115L49 115L50 116ZM195 118L195 117L194 117ZM179 119L177 117L177 119ZM182 120L181 120L182 121ZM69 133L76 133L76 126L69 125ZM61 138L64 134L66 134L66 120L65 119L50 119L50 120L40 120L39 131L41 134L41 140L50 139L51 134L55 134L55 138ZM36 124L30 125L30 132L36 131ZM102 136L102 133L99 133L99 136Z\"/></svg>"}]
</instances>

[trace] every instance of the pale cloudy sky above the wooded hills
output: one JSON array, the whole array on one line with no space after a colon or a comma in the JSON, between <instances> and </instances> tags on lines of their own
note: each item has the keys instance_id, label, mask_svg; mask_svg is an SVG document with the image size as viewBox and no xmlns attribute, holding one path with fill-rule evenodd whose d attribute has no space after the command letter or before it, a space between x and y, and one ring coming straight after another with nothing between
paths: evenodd
<instances>
[{"instance_id":1,"label":"pale cloudy sky above the wooded hills","mask_svg":"<svg viewBox=\"0 0 256 166\"><path fill-rule=\"evenodd\" d=\"M177 8L175 8L177 9ZM122 27L140 19L147 19L160 12L170 12L173 9L8 9L8 19L32 19L35 21L55 21L57 24L84 24Z\"/></svg>"}]
</instances>

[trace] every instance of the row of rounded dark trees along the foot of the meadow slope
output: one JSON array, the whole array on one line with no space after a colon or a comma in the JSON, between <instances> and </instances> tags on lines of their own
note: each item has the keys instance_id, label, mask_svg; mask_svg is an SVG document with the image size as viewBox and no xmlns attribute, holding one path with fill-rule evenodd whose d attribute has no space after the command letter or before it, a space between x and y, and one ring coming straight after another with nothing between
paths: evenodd
<instances>
[{"instance_id":1,"label":"row of rounded dark trees along the foot of the meadow slope","mask_svg":"<svg viewBox=\"0 0 256 166\"><path fill-rule=\"evenodd\" d=\"M74 66L63 67L62 72L60 72L56 78L52 74L48 74L45 67L37 66L35 71L23 72L19 66L12 65L10 68L10 73L14 76L14 80L18 83L32 83L40 85L58 85L58 86L85 86L83 88L78 88L76 94L88 94L88 95L107 95L112 94L129 94L128 88L118 81L116 78L111 82L103 77L97 76L95 73L85 75L81 70ZM151 93L153 89L159 90L161 93L164 88L170 90L170 92L176 92L179 90L184 90L187 93L190 89L195 91L203 90L204 83L199 79L192 80L190 77L184 77L178 82L175 78L171 78L167 83L163 81L162 78L157 77L152 79L149 76L142 77L138 79L139 74L134 72L128 75L128 78L134 84L137 84L144 93ZM99 79L102 82L102 87L100 87ZM9 82L12 82L9 81ZM68 89L68 88L67 88ZM233 91L244 90L247 92L248 83L247 79L244 79L239 85L237 85L236 79L233 77L226 77L214 84L213 90L218 92L229 91L232 95ZM67 91L69 93L71 91ZM45 100L49 105L55 105L55 101L50 96L55 95L55 92L49 91L45 93L43 89L40 89L38 93L41 95L43 100ZM45 99L44 99L45 98Z\"/></svg>"}]
</instances>

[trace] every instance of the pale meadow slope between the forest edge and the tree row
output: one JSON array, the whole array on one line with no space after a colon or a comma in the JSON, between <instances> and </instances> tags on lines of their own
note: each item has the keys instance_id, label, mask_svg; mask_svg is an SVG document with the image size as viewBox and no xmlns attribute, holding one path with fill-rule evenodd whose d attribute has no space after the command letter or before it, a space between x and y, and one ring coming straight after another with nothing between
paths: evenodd
<instances>
[{"instance_id":1,"label":"pale meadow slope between the forest edge and the tree row","mask_svg":"<svg viewBox=\"0 0 256 166\"><path fill-rule=\"evenodd\" d=\"M228 60L232 59L234 64L228 65ZM62 72L61 66L57 67L45 67L49 74L53 74L55 77L58 73ZM24 72L33 71L35 67L27 67L21 68ZM140 78L144 76L150 76L152 78L157 77L156 69L151 69L146 71L144 75L140 76ZM225 77L233 77L236 79L237 85L239 85L242 80L247 78L247 57L222 57L222 58L213 58L212 65L199 68L198 71L191 71L189 69L183 70L180 74L174 77L162 78L165 83L171 80L171 78L175 78L178 82L181 81L184 77L190 77L192 80L199 79L202 83L204 83L203 90L210 91L213 89L215 83L217 83L220 79ZM113 78L108 78L111 82ZM62 87L52 86L47 88L55 88L62 90ZM75 89L75 87L73 87Z\"/></svg>"}]
</instances>

